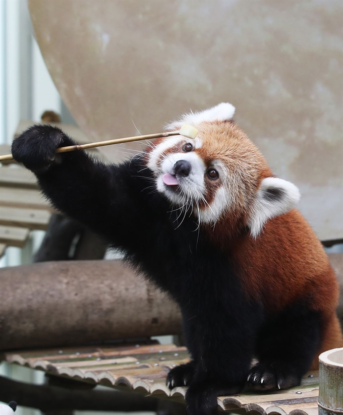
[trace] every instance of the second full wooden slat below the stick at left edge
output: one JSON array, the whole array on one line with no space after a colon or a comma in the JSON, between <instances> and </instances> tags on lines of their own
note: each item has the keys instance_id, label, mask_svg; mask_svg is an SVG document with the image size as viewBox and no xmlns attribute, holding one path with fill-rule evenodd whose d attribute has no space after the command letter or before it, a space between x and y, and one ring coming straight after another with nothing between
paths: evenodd
<instances>
[{"instance_id":1,"label":"second full wooden slat below the stick at left edge","mask_svg":"<svg viewBox=\"0 0 343 415\"><path fill-rule=\"evenodd\" d=\"M6 186L0 186L0 205L50 210L49 203L37 190Z\"/></svg>"}]
</instances>

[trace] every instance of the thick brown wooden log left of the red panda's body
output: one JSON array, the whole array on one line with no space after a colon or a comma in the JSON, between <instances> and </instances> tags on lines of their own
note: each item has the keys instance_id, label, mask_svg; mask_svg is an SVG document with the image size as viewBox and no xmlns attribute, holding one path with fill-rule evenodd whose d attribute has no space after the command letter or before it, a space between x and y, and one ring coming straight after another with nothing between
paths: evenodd
<instances>
[{"instance_id":1,"label":"thick brown wooden log left of the red panda's body","mask_svg":"<svg viewBox=\"0 0 343 415\"><path fill-rule=\"evenodd\" d=\"M0 292L0 350L181 331L178 306L120 261L2 268Z\"/></svg>"}]
</instances>

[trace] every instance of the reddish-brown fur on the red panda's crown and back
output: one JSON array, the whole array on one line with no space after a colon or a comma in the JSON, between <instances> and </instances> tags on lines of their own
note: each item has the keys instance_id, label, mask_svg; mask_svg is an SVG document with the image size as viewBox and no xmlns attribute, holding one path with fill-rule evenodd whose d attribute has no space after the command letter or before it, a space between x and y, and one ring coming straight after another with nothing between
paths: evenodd
<instances>
[{"instance_id":1,"label":"reddish-brown fur on the red panda's crown and back","mask_svg":"<svg viewBox=\"0 0 343 415\"><path fill-rule=\"evenodd\" d=\"M271 171L257 147L235 125L206 125L199 130L204 145L198 151L205 160L222 160L229 170L239 169L243 181L234 191L246 193L245 203L253 198L258 185ZM223 149L223 140L228 145ZM249 164L248 171L245 170ZM243 270L247 295L258 298L269 312L276 312L298 299L307 297L313 310L323 316L323 343L320 352L343 346L343 336L335 309L338 283L326 253L305 218L296 209L269 219L257 240L251 236L235 240L239 228L246 225L247 211L235 206L214 229L208 227L212 240L226 245L237 266ZM318 353L318 354L319 354ZM313 368L318 366L318 354Z\"/></svg>"}]
</instances>

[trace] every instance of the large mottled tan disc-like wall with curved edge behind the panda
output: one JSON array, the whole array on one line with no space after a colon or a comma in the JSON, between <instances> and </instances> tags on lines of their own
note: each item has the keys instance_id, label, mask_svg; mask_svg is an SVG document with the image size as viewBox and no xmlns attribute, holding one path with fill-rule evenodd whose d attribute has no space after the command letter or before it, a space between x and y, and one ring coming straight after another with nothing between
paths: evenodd
<instances>
[{"instance_id":1,"label":"large mottled tan disc-like wall with curved edge behind the panda","mask_svg":"<svg viewBox=\"0 0 343 415\"><path fill-rule=\"evenodd\" d=\"M341 0L29 0L50 74L90 140L222 101L321 240L343 239ZM134 122L134 123L133 123ZM118 160L118 146L99 149Z\"/></svg>"}]
</instances>

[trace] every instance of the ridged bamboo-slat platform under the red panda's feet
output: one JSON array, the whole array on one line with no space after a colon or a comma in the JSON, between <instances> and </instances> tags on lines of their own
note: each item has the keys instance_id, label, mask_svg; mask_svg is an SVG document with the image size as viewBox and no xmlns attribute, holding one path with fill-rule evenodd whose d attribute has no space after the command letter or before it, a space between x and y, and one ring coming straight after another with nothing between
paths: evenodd
<instances>
[{"instance_id":1,"label":"ridged bamboo-slat platform under the red panda's feet","mask_svg":"<svg viewBox=\"0 0 343 415\"><path fill-rule=\"evenodd\" d=\"M186 387L169 390L168 371L189 360L185 347L175 344L118 344L4 353L9 363L108 387L124 387L144 395L184 401ZM298 392L298 393L297 393ZM218 397L218 409L262 415L317 415L318 372L310 372L301 386L264 394Z\"/></svg>"}]
</instances>

